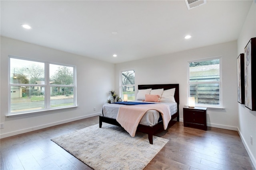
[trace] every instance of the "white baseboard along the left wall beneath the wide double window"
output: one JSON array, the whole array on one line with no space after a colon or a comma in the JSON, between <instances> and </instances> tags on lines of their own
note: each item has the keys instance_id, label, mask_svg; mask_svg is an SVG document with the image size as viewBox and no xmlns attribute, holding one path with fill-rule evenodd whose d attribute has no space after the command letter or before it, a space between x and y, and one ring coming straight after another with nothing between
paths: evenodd
<instances>
[{"instance_id":1,"label":"white baseboard along the left wall beneath the wide double window","mask_svg":"<svg viewBox=\"0 0 256 170\"><path fill-rule=\"evenodd\" d=\"M66 120L62 120L62 121L58 121L58 122L54 122L54 123L49 123L49 124L45 124L45 125L40 125L40 126L36 126L36 127L30 127L28 129L22 129L22 130L19 130L19 131L4 133L4 134L0 135L0 139L5 138L5 137L14 136L14 135L19 135L19 134L22 134L22 133L36 131L36 130L39 130L39 129L44 129L46 127L51 127L51 126L56 126L56 125L60 125L60 124L63 124L63 123L68 123L68 122L71 122L71 121L85 119L85 118L93 117L93 116L97 116L97 115L101 115L101 112L90 114L90 115L85 115L85 116L81 116L81 117L75 117L75 118L72 118L72 119L66 119Z\"/></svg>"}]
</instances>

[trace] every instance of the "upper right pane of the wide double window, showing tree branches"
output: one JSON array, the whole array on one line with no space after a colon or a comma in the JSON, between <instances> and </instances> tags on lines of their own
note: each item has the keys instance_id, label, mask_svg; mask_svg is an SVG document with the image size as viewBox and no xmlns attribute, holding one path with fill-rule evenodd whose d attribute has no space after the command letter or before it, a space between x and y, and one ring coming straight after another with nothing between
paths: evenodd
<instances>
[{"instance_id":1,"label":"upper right pane of the wide double window, showing tree branches","mask_svg":"<svg viewBox=\"0 0 256 170\"><path fill-rule=\"evenodd\" d=\"M50 65L50 84L73 85L73 67Z\"/></svg>"}]
</instances>

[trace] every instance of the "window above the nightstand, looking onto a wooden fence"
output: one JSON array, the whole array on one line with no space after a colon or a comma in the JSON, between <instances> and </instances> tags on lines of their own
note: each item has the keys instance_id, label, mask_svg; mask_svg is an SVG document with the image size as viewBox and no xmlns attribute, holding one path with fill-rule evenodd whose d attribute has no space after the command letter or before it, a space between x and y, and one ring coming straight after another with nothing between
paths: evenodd
<instances>
[{"instance_id":1,"label":"window above the nightstand, looking onto a wooden fence","mask_svg":"<svg viewBox=\"0 0 256 170\"><path fill-rule=\"evenodd\" d=\"M189 62L188 96L196 106L222 106L220 68L220 57Z\"/></svg>"}]
</instances>

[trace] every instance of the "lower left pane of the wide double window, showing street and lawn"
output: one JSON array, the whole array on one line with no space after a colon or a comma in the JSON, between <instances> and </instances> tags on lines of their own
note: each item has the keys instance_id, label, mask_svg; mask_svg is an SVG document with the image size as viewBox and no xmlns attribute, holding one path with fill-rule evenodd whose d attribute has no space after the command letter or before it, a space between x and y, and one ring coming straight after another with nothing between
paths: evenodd
<instances>
[{"instance_id":1,"label":"lower left pane of the wide double window, showing street and lawn","mask_svg":"<svg viewBox=\"0 0 256 170\"><path fill-rule=\"evenodd\" d=\"M45 108L44 86L11 86L11 113L43 108Z\"/></svg>"}]
</instances>

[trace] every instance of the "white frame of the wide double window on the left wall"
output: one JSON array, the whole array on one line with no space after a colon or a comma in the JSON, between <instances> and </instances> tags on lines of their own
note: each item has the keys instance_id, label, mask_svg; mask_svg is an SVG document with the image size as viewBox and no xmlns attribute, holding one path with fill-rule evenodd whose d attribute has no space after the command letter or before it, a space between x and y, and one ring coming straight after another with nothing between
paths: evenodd
<instances>
[{"instance_id":1,"label":"white frame of the wide double window on the left wall","mask_svg":"<svg viewBox=\"0 0 256 170\"><path fill-rule=\"evenodd\" d=\"M11 61L10 59L19 59L19 60L25 60L25 61L33 61L33 62L40 62L44 63L44 84L11 84L10 82L10 73L11 73ZM51 85L50 84L50 64L56 64L60 66L68 66L73 68L73 85ZM37 87L44 87L44 108L42 109L27 109L24 111L15 111L11 112L11 86L37 86ZM68 87L73 87L73 94L74 94L74 104L70 106L59 106L59 107L51 107L50 106L50 97L51 97L51 92L50 88L52 86L68 86ZM8 55L8 113L7 117L15 117L15 116L20 116L20 115L28 115L28 114L35 114L35 113L42 113L42 112L48 112L48 111L53 111L53 110L59 110L59 109L69 109L77 107L77 100L76 100L76 66L70 65L70 64L62 64L62 63L54 63L54 62L49 62L49 61L42 61L38 59L29 59L25 57L17 57L13 55Z\"/></svg>"}]
</instances>

